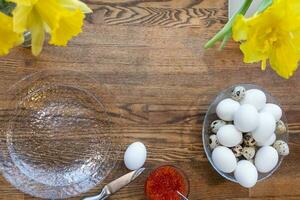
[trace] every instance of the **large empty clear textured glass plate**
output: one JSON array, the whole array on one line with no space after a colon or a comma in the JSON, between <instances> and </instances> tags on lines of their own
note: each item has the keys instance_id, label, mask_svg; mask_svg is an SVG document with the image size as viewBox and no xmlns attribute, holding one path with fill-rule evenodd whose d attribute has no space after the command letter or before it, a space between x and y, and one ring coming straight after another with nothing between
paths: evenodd
<instances>
[{"instance_id":1,"label":"large empty clear textured glass plate","mask_svg":"<svg viewBox=\"0 0 300 200\"><path fill-rule=\"evenodd\" d=\"M78 72L42 71L16 83L7 96L0 169L16 188L67 198L93 188L113 169L119 146L110 134L104 86Z\"/></svg>"}]
</instances>

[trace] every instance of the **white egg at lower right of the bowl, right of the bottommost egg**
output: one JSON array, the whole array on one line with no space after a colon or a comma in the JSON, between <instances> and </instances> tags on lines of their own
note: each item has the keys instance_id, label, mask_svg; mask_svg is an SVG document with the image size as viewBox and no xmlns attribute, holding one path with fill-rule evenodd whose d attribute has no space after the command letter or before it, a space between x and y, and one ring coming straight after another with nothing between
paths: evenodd
<instances>
[{"instance_id":1,"label":"white egg at lower right of the bowl, right of the bottommost egg","mask_svg":"<svg viewBox=\"0 0 300 200\"><path fill-rule=\"evenodd\" d=\"M256 152L254 163L259 172L270 172L278 163L278 153L276 149L271 146L261 147Z\"/></svg>"}]
</instances>

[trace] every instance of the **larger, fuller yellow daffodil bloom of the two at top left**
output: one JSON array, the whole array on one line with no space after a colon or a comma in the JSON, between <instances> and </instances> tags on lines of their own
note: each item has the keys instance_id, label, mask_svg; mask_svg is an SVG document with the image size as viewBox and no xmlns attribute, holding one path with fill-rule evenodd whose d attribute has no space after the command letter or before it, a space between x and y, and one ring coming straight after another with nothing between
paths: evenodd
<instances>
[{"instance_id":1,"label":"larger, fuller yellow daffodil bloom of the two at top left","mask_svg":"<svg viewBox=\"0 0 300 200\"><path fill-rule=\"evenodd\" d=\"M42 50L45 32L51 35L50 44L66 46L72 37L82 31L84 13L92 12L79 0L10 1L17 5L13 11L14 31L31 32L34 55Z\"/></svg>"}]
</instances>

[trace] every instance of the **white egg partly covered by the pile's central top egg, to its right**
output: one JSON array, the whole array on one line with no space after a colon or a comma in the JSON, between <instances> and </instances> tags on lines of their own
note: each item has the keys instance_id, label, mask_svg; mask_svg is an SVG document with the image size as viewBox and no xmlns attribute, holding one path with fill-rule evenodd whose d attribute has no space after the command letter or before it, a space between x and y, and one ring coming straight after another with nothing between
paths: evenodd
<instances>
[{"instance_id":1,"label":"white egg partly covered by the pile's central top egg, to its right","mask_svg":"<svg viewBox=\"0 0 300 200\"><path fill-rule=\"evenodd\" d=\"M276 129L276 121L273 115L269 113L260 113L257 128L252 132L252 136L256 142L266 142Z\"/></svg>"}]
</instances>

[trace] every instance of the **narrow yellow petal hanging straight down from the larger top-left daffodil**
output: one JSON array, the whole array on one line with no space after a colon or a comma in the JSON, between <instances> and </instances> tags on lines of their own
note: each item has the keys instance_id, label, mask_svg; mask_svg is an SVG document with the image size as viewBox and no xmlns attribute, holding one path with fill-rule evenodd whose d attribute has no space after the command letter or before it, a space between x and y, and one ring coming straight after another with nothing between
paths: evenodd
<instances>
[{"instance_id":1,"label":"narrow yellow petal hanging straight down from the larger top-left daffodil","mask_svg":"<svg viewBox=\"0 0 300 200\"><path fill-rule=\"evenodd\" d=\"M29 31L31 32L31 51L32 54L37 56L43 49L45 40L45 31L43 27L43 21L38 17L38 14L34 11L30 15L29 19Z\"/></svg>"}]
</instances>

